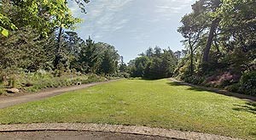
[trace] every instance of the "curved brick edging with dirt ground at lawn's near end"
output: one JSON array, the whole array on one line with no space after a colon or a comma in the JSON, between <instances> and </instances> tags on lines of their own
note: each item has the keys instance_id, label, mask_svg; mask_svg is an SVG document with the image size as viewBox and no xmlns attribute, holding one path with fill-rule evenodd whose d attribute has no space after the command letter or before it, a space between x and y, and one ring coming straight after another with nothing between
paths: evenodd
<instances>
[{"instance_id":1,"label":"curved brick edging with dirt ground at lawn's near end","mask_svg":"<svg viewBox=\"0 0 256 140\"><path fill-rule=\"evenodd\" d=\"M48 132L44 132L48 131ZM73 133L71 132L73 131ZM15 132L18 132L15 133ZM171 139L218 139L218 140L233 140L238 138L232 137L224 137L213 134L206 134L201 132L181 132L176 130L166 130L161 128L152 128L147 126L121 126L121 125L107 125L107 124L82 124L82 123L52 123L52 124L18 124L18 125L0 125L0 139L5 139L4 137L15 137L21 135L29 138L29 136L33 136L32 138L39 138L44 136L50 136L52 132L61 132L61 135L54 135L55 137L64 137L63 139L72 139L73 135L81 134L84 137L92 137L104 139L104 137L109 137L109 139L118 138L119 139L132 139L134 135L143 135L134 137L134 139L158 139L161 137L162 139L171 138ZM68 137L67 133L72 133L70 137ZM85 132L85 133L84 133ZM99 137L94 137L93 135L89 136L88 132L100 132ZM106 133L107 132L107 133ZM84 133L84 134L83 134ZM87 133L87 134L86 134ZM28 135L29 134L29 135ZM133 134L133 135L128 135ZM26 135L28 135L26 137ZM66 136L67 135L67 136ZM21 137L20 136L20 137ZM82 138L82 136L80 138ZM150 136L150 137L147 137ZM66 137L66 138L65 138ZM111 138L113 137L113 138ZM51 137L52 138L52 137ZM50 139L50 138L49 138ZM85 138L84 138L85 139ZM88 138L90 139L90 138Z\"/></svg>"}]
</instances>

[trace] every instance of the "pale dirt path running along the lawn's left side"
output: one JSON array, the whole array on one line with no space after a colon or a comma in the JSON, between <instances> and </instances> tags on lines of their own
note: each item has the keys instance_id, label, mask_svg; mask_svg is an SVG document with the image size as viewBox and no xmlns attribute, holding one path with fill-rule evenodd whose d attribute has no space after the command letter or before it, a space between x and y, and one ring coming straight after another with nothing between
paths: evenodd
<instances>
[{"instance_id":1,"label":"pale dirt path running along the lawn's left side","mask_svg":"<svg viewBox=\"0 0 256 140\"><path fill-rule=\"evenodd\" d=\"M60 95L61 93L64 93L64 92L75 91L75 90L83 89L86 87L93 87L93 86L103 84L103 83L108 83L108 82L111 82L111 81L95 82L95 83L84 84L84 85L73 86L73 87L49 88L49 89L45 89L42 92L20 95L15 97L4 97L4 98L0 98L0 109L7 108L9 106L13 106L16 104L37 101L43 98L50 98L56 95Z\"/></svg>"}]
</instances>

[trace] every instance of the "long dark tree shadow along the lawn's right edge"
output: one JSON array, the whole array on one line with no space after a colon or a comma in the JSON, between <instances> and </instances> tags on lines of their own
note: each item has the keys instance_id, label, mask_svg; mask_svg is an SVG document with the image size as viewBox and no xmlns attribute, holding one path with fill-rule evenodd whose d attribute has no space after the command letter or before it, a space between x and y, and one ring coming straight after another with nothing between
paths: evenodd
<instances>
[{"instance_id":1,"label":"long dark tree shadow along the lawn's right edge","mask_svg":"<svg viewBox=\"0 0 256 140\"><path fill-rule=\"evenodd\" d=\"M250 101L256 101L256 97L253 96L248 96L245 94L239 94L236 92L228 92L225 90L221 90L221 89L217 89L217 88L212 88L212 87L203 87L203 86L197 86L197 85L193 85L193 84L189 84L183 81L171 81L171 82L167 82L168 85L170 86L188 86L189 88L187 90L190 91L195 91L195 92L214 92L214 93L218 93L218 94L222 94L225 96L229 96L229 97L235 97L235 98L241 98L241 99L248 99Z\"/></svg>"}]
</instances>

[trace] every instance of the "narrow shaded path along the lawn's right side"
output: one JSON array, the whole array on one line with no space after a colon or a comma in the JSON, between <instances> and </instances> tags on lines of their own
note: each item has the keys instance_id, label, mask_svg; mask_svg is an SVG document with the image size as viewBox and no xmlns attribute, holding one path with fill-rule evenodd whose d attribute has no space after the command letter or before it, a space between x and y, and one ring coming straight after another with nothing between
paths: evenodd
<instances>
[{"instance_id":1,"label":"narrow shaded path along the lawn's right side","mask_svg":"<svg viewBox=\"0 0 256 140\"><path fill-rule=\"evenodd\" d=\"M184 82L184 81L177 81L174 78L169 78L169 80L173 81L173 82L176 82L179 85L185 85L185 86L189 86L189 87L200 88L202 90L209 91L209 92L216 92L218 94L223 94L223 95L230 96L230 97L246 99L249 102L255 102L256 101L256 97L245 95L245 94L239 94L239 93L236 93L236 92L228 92L226 90L222 90L222 89L218 89L218 88L193 85L193 84L190 84L190 83L187 83L187 82Z\"/></svg>"}]
</instances>

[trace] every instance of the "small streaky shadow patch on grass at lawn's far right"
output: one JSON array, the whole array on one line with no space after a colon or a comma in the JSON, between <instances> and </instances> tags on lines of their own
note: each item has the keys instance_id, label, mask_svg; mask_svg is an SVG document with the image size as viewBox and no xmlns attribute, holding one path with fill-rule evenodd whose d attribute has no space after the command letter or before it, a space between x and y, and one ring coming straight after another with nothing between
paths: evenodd
<instances>
[{"instance_id":1,"label":"small streaky shadow patch on grass at lawn's far right","mask_svg":"<svg viewBox=\"0 0 256 140\"><path fill-rule=\"evenodd\" d=\"M236 111L249 112L249 113L252 113L253 115L256 115L256 103L247 102L244 105L235 104L235 106L236 108L234 108L234 110Z\"/></svg>"}]
</instances>

